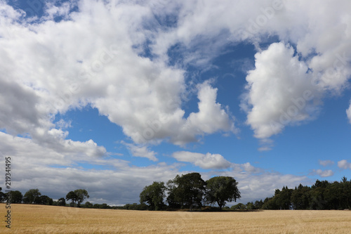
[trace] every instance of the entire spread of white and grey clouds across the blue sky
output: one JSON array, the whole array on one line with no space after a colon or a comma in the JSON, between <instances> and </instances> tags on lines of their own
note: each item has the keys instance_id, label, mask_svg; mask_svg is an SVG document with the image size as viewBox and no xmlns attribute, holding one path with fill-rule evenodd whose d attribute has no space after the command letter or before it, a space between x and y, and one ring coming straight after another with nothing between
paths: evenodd
<instances>
[{"instance_id":1,"label":"entire spread of white and grey clouds across the blue sky","mask_svg":"<svg viewBox=\"0 0 351 234\"><path fill-rule=\"evenodd\" d=\"M211 82L190 87L186 76L187 65L211 66L228 44L256 46L241 108L263 143L286 126L316 118L324 96L339 95L350 79L350 1L81 0L36 7L44 15L28 17L33 7L15 10L0 1L0 150L20 158L18 171L26 178L18 178L22 189L29 182L44 183L39 175L45 174L57 188L67 180L72 185L85 181L95 197L115 201L100 194L104 181L105 188L118 183L119 192L111 191L125 202L142 182L172 178L177 165L131 167L110 158L93 140L70 140L65 128L55 124L55 115L91 105L122 127L134 156L153 161L156 153L140 144L186 145L206 134L235 132L234 117L218 103L218 89ZM273 37L277 41L260 48ZM174 46L182 59L173 63L168 55ZM182 107L190 89L197 93L198 111L185 115ZM351 105L345 110L351 122ZM211 153L177 152L173 157L205 169L230 167L222 155ZM110 164L114 170L87 172L74 168L77 162ZM244 193L268 195L259 170L245 165L223 174L239 177ZM343 169L349 166L338 163ZM270 190L305 179L264 175L266 181L277 181ZM124 189L130 183L135 190Z\"/></svg>"}]
</instances>

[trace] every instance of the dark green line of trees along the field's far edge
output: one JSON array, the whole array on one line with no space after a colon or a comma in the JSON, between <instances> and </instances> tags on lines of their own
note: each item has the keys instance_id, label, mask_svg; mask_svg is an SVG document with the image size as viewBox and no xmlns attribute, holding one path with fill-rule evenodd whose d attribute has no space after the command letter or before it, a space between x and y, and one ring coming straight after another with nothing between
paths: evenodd
<instances>
[{"instance_id":1,"label":"dark green line of trees along the field's far edge","mask_svg":"<svg viewBox=\"0 0 351 234\"><path fill-rule=\"evenodd\" d=\"M39 189L30 189L25 195L18 190L2 193L0 201L25 204L47 204L69 207L97 209L136 209L136 210L174 210L201 209L206 204L217 204L218 209L351 209L351 180L344 176L341 181L319 181L312 186L299 185L295 188L284 186L276 189L272 197L256 200L247 204L235 204L226 207L227 202L236 202L241 197L237 181L230 176L216 176L204 181L197 172L177 175L167 183L154 181L145 186L140 193L140 204L125 204L111 207L106 203L92 204L84 200L89 197L84 189L69 191L66 197L53 200L41 195ZM67 201L67 202L66 202ZM69 201L69 203L68 203Z\"/></svg>"}]
</instances>

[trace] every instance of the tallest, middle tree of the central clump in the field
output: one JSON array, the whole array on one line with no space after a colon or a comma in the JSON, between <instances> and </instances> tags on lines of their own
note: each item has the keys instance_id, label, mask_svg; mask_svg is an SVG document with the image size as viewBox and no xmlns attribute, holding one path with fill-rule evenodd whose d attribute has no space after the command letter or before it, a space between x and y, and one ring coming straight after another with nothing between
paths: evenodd
<instances>
[{"instance_id":1,"label":"tallest, middle tree of the central clump in the field","mask_svg":"<svg viewBox=\"0 0 351 234\"><path fill-rule=\"evenodd\" d=\"M177 206L185 206L192 209L195 204L197 207L202 207L204 194L206 191L206 182L197 172L176 176L171 181L168 181L168 204L176 204Z\"/></svg>"}]
</instances>

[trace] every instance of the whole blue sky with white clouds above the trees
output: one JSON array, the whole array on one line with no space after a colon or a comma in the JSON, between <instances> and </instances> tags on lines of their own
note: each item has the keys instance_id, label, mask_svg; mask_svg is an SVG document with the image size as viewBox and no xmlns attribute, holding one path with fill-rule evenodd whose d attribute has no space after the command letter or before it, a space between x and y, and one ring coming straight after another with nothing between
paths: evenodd
<instances>
[{"instance_id":1,"label":"whole blue sky with white clouds above the trees","mask_svg":"<svg viewBox=\"0 0 351 234\"><path fill-rule=\"evenodd\" d=\"M110 205L194 171L234 177L242 203L350 179L350 11L0 0L0 172L11 157L11 190Z\"/></svg>"}]
</instances>

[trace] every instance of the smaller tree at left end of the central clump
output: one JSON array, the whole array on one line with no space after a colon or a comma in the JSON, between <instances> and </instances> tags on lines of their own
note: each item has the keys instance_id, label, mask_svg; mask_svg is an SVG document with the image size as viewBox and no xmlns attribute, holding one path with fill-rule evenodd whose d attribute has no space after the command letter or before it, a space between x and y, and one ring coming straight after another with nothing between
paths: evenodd
<instances>
[{"instance_id":1,"label":"smaller tree at left end of the central clump","mask_svg":"<svg viewBox=\"0 0 351 234\"><path fill-rule=\"evenodd\" d=\"M140 203L146 202L149 204L151 210L161 210L164 207L164 197L166 186L164 182L154 181L152 185L145 186L140 193Z\"/></svg>"}]
</instances>

